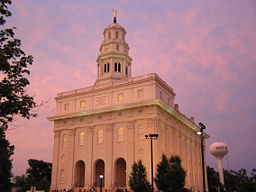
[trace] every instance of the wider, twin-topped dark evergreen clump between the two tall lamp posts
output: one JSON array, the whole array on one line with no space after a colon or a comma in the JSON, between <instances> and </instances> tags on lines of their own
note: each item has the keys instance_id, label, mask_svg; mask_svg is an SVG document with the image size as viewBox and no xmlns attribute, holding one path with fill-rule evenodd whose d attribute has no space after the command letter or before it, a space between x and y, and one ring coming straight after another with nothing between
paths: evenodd
<instances>
[{"instance_id":1,"label":"wider, twin-topped dark evergreen clump between the two tall lamp posts","mask_svg":"<svg viewBox=\"0 0 256 192\"><path fill-rule=\"evenodd\" d=\"M162 160L157 165L155 183L159 190L164 192L180 192L186 190L185 185L186 172L181 166L179 156L162 155Z\"/></svg>"}]
</instances>

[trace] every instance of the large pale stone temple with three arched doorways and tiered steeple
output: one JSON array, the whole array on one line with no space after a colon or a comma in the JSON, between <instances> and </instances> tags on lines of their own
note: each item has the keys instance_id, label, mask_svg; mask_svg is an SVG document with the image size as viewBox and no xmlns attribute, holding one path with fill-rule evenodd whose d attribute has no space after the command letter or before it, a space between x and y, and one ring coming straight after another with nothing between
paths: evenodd
<instances>
[{"instance_id":1,"label":"large pale stone temple with three arched doorways and tiered steeple","mask_svg":"<svg viewBox=\"0 0 256 192\"><path fill-rule=\"evenodd\" d=\"M94 85L58 93L51 189L128 189L132 164L142 160L151 181L162 154L179 155L186 187L202 191L199 127L174 102L175 93L157 74L132 77L126 31L116 21L103 32ZM146 65L146 64L144 64ZM205 134L205 137L208 137ZM102 180L100 175L103 175ZM155 187L156 189L156 187Z\"/></svg>"}]
</instances>

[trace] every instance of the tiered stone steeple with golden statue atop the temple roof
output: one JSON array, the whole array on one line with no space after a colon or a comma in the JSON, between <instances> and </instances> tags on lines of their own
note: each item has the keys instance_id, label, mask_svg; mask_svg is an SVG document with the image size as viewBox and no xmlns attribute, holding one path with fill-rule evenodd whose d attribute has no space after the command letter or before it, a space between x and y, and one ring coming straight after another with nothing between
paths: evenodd
<instances>
[{"instance_id":1,"label":"tiered stone steeple with golden statue atop the temple roof","mask_svg":"<svg viewBox=\"0 0 256 192\"><path fill-rule=\"evenodd\" d=\"M98 77L96 85L112 84L131 77L129 46L125 42L125 29L117 23L117 11L113 10L113 23L103 32L104 40L97 58Z\"/></svg>"}]
</instances>

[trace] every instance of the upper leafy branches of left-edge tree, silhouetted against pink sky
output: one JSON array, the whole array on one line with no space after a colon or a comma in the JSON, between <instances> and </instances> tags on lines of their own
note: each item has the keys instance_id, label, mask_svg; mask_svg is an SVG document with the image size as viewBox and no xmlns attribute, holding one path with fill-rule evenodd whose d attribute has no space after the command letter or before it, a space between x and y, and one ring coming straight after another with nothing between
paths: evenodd
<instances>
[{"instance_id":1,"label":"upper leafy branches of left-edge tree, silhouetted against pink sky","mask_svg":"<svg viewBox=\"0 0 256 192\"><path fill-rule=\"evenodd\" d=\"M0 0L0 25L11 16L8 5L11 0ZM29 81L27 67L33 58L21 49L21 40L15 38L15 27L0 31L0 128L4 131L15 115L25 118L35 116L30 110L36 106L33 97L26 93Z\"/></svg>"}]
</instances>

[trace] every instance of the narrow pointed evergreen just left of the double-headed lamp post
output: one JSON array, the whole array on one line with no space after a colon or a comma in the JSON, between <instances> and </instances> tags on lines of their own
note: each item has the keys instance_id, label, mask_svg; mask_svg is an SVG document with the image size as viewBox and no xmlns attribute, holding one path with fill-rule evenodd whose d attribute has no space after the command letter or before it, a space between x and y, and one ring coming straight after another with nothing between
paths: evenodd
<instances>
[{"instance_id":1,"label":"narrow pointed evergreen just left of the double-headed lamp post","mask_svg":"<svg viewBox=\"0 0 256 192\"><path fill-rule=\"evenodd\" d=\"M150 192L150 184L146 177L146 168L143 166L141 160L139 160L138 163L134 162L131 175L129 176L130 188L134 192Z\"/></svg>"}]
</instances>

